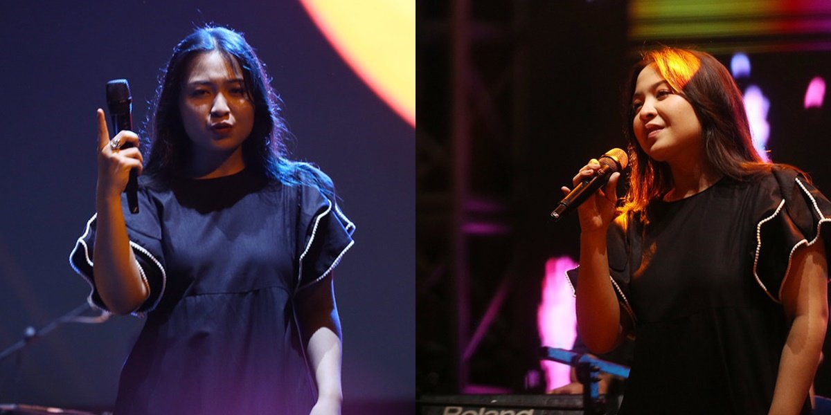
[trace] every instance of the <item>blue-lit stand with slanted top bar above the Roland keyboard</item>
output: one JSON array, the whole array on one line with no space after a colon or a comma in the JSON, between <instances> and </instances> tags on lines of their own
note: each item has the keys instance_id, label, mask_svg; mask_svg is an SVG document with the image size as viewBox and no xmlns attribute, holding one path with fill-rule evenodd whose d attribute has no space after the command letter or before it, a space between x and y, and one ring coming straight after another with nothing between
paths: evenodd
<instances>
[{"instance_id":1,"label":"blue-lit stand with slanted top bar above the Roland keyboard","mask_svg":"<svg viewBox=\"0 0 831 415\"><path fill-rule=\"evenodd\" d=\"M629 368L626 366L597 359L590 354L547 346L543 346L540 353L543 359L568 364L577 369L577 378L583 383L583 413L586 415L606 413L606 402L600 398L600 388L597 384L600 382L600 372L629 378Z\"/></svg>"}]
</instances>

